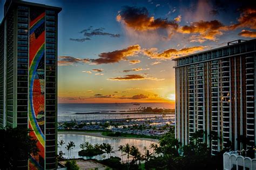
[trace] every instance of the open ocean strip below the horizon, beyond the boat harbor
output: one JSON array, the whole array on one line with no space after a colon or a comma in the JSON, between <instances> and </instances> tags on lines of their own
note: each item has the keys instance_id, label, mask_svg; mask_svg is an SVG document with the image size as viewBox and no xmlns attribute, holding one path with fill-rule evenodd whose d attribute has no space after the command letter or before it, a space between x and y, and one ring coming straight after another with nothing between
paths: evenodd
<instances>
[{"instance_id":1,"label":"open ocean strip below the horizon, beyond the boat harbor","mask_svg":"<svg viewBox=\"0 0 256 170\"><path fill-rule=\"evenodd\" d=\"M133 111L139 107L152 108L174 108L174 104L169 103L83 103L83 104L58 104L58 115L70 115L74 113L91 113L91 112L122 112Z\"/></svg>"}]
</instances>

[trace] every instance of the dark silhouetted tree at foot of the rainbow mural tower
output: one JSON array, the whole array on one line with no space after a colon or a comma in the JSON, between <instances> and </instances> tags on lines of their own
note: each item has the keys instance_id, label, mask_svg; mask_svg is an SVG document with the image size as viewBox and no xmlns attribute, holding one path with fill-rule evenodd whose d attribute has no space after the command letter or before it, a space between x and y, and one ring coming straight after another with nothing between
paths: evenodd
<instances>
[{"instance_id":1,"label":"dark silhouetted tree at foot of the rainbow mural tower","mask_svg":"<svg viewBox=\"0 0 256 170\"><path fill-rule=\"evenodd\" d=\"M17 169L18 160L38 154L37 140L28 135L31 131L21 127L0 129L0 169Z\"/></svg>"}]
</instances>

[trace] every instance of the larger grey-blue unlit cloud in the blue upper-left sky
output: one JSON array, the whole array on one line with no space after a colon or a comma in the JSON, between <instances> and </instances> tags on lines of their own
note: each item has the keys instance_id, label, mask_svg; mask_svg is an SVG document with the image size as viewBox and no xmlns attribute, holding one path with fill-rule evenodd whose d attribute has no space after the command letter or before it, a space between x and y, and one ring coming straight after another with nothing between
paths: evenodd
<instances>
[{"instance_id":1,"label":"larger grey-blue unlit cloud in the blue upper-left sky","mask_svg":"<svg viewBox=\"0 0 256 170\"><path fill-rule=\"evenodd\" d=\"M84 29L80 31L79 33L83 33L85 37L92 37L92 36L110 36L110 37L120 37L119 33L109 33L109 32L104 32L104 28L98 28L92 30L92 26L89 27L88 29Z\"/></svg>"}]
</instances>

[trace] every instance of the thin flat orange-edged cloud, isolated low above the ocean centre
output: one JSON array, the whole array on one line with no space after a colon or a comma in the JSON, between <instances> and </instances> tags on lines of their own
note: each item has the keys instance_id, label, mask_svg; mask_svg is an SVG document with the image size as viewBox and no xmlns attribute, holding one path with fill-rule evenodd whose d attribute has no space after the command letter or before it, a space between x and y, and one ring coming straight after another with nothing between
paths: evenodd
<instances>
[{"instance_id":1,"label":"thin flat orange-edged cloud, isolated low above the ocean centre","mask_svg":"<svg viewBox=\"0 0 256 170\"><path fill-rule=\"evenodd\" d=\"M164 79L158 79L155 77L147 77L145 75L139 75L139 74L128 74L123 77L114 77L114 78L109 78L107 80L114 80L114 81L125 81L125 80L164 80Z\"/></svg>"}]
</instances>

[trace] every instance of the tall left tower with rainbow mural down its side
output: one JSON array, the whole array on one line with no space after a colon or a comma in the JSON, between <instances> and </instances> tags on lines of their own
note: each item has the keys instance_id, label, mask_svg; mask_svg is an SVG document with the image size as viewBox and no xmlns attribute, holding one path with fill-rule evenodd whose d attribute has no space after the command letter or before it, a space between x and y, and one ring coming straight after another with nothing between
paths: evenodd
<instances>
[{"instance_id":1,"label":"tall left tower with rainbow mural down its side","mask_svg":"<svg viewBox=\"0 0 256 170\"><path fill-rule=\"evenodd\" d=\"M56 169L61 8L7 0L0 25L0 127L29 127L39 154L19 169Z\"/></svg>"}]
</instances>

